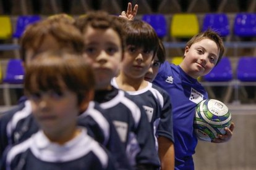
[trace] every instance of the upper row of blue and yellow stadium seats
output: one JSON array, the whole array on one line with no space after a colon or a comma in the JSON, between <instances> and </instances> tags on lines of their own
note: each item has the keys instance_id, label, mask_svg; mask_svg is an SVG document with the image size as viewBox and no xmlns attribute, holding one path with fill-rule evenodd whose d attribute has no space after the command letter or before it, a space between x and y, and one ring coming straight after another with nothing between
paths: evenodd
<instances>
[{"instance_id":1,"label":"upper row of blue and yellow stadium seats","mask_svg":"<svg viewBox=\"0 0 256 170\"><path fill-rule=\"evenodd\" d=\"M20 38L25 27L33 22L40 20L38 15L23 15L17 18L15 29L12 28L11 18L6 15L0 15L0 39ZM240 37L256 36L256 13L239 13L235 15L233 26L229 23L226 14L205 14L202 28L198 23L195 14L174 14L171 18L168 34L168 22L162 14L142 15L142 20L150 23L155 28L160 38L171 36L174 38L190 38L199 31L205 31L212 28L226 37L231 32ZM231 30L231 27L233 30ZM12 30L14 33L12 34Z\"/></svg>"}]
</instances>

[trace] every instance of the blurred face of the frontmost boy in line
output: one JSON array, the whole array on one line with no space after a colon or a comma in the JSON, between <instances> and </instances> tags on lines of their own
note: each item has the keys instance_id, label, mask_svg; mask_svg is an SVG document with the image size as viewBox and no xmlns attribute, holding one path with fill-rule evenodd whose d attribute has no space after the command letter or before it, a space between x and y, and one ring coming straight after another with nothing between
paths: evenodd
<instances>
[{"instance_id":1,"label":"blurred face of the frontmost boy in line","mask_svg":"<svg viewBox=\"0 0 256 170\"><path fill-rule=\"evenodd\" d=\"M62 92L46 91L28 95L32 111L46 134L62 134L76 126L79 106L77 95L63 89Z\"/></svg>"}]
</instances>

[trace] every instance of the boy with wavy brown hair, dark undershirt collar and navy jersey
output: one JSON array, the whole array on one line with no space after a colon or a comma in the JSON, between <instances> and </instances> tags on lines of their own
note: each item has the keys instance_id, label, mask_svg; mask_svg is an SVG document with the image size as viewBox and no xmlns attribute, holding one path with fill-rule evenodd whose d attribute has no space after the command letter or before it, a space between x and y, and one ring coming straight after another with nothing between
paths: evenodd
<instances>
[{"instance_id":1,"label":"boy with wavy brown hair, dark undershirt collar and navy jersey","mask_svg":"<svg viewBox=\"0 0 256 170\"><path fill-rule=\"evenodd\" d=\"M126 155L135 169L155 169L157 153L150 124L142 107L126 92L111 86L123 60L124 37L116 18L105 12L92 12L76 23L85 42L85 59L92 62L96 75L95 101L106 110L116 126Z\"/></svg>"}]
</instances>

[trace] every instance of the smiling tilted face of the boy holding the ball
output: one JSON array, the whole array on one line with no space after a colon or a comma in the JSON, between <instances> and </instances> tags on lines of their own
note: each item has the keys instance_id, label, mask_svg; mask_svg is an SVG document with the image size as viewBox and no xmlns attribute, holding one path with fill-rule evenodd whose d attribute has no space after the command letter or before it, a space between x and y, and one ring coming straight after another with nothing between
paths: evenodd
<instances>
[{"instance_id":1,"label":"smiling tilted face of the boy holding the ball","mask_svg":"<svg viewBox=\"0 0 256 170\"><path fill-rule=\"evenodd\" d=\"M202 39L186 47L181 68L192 78L207 75L218 61L220 51L211 39Z\"/></svg>"}]
</instances>

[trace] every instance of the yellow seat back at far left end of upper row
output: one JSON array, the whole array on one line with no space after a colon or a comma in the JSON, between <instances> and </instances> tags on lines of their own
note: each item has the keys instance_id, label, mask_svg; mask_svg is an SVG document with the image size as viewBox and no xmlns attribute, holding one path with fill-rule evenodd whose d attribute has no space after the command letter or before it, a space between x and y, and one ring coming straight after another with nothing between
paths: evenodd
<instances>
[{"instance_id":1,"label":"yellow seat back at far left end of upper row","mask_svg":"<svg viewBox=\"0 0 256 170\"><path fill-rule=\"evenodd\" d=\"M6 15L0 16L0 39L9 39L12 36L11 18Z\"/></svg>"}]
</instances>

